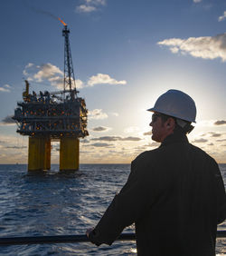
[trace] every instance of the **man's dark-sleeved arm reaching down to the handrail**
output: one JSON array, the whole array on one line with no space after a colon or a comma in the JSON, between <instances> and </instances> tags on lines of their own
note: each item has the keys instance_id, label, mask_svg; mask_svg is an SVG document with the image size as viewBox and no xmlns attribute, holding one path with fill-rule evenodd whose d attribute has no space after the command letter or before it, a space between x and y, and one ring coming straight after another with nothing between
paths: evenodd
<instances>
[{"instance_id":1,"label":"man's dark-sleeved arm reaching down to the handrail","mask_svg":"<svg viewBox=\"0 0 226 256\"><path fill-rule=\"evenodd\" d=\"M149 196L151 193L148 192L152 184L146 177L146 173L150 172L148 169L144 163L142 166L136 161L131 163L127 183L114 197L94 231L89 234L90 241L96 245L111 245L125 227L136 222L148 211L152 203Z\"/></svg>"}]
</instances>

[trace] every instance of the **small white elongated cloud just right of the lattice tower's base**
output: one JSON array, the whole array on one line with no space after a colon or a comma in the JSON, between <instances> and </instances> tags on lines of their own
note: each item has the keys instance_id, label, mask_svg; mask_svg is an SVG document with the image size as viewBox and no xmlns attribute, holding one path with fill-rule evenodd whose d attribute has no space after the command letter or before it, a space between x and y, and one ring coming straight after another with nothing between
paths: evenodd
<instances>
[{"instance_id":1,"label":"small white elongated cloud just right of the lattice tower's base","mask_svg":"<svg viewBox=\"0 0 226 256\"><path fill-rule=\"evenodd\" d=\"M95 84L127 84L126 80L117 81L111 78L108 74L96 74L89 77L88 85L93 86Z\"/></svg>"}]
</instances>

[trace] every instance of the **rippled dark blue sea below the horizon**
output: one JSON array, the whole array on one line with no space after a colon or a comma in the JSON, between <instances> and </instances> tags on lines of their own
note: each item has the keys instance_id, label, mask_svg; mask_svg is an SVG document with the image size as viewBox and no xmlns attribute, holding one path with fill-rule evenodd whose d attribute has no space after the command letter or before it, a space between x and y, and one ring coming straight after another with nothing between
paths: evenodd
<instances>
[{"instance_id":1,"label":"rippled dark blue sea below the horizon","mask_svg":"<svg viewBox=\"0 0 226 256\"><path fill-rule=\"evenodd\" d=\"M226 187L226 164L219 164ZM25 164L0 165L0 237L83 235L94 227L127 181L129 164L80 164L77 172L27 172ZM226 230L226 222L219 226ZM134 226L124 232L134 232ZM163 241L164 246L164 241ZM218 239L216 255L226 255ZM96 247L90 242L13 245L0 255L137 255L135 241Z\"/></svg>"}]
</instances>

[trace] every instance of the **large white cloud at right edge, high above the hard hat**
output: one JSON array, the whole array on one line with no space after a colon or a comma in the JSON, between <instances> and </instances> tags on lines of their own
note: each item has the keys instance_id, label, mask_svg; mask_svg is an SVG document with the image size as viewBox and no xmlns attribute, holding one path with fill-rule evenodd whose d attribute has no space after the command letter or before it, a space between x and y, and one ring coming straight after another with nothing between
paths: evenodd
<instances>
[{"instance_id":1,"label":"large white cloud at right edge, high above the hard hat","mask_svg":"<svg viewBox=\"0 0 226 256\"><path fill-rule=\"evenodd\" d=\"M211 60L221 58L223 62L226 61L226 33L188 39L170 38L157 44L168 46L174 54L190 54L193 57Z\"/></svg>"}]
</instances>

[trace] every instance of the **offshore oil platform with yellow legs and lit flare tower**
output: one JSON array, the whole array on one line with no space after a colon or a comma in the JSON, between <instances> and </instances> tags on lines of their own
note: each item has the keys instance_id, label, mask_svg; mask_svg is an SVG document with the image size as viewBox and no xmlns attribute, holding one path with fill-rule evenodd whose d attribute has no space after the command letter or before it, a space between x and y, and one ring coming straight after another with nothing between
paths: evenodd
<instances>
[{"instance_id":1,"label":"offshore oil platform with yellow legs and lit flare tower","mask_svg":"<svg viewBox=\"0 0 226 256\"><path fill-rule=\"evenodd\" d=\"M89 135L87 131L86 103L78 97L69 42L70 30L64 25L64 83L58 92L30 94L29 83L25 81L22 102L17 103L13 119L17 133L29 136L28 171L51 169L51 142L60 141L60 170L79 169L80 138Z\"/></svg>"}]
</instances>

